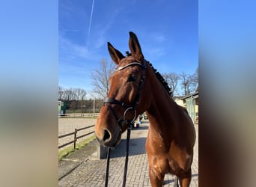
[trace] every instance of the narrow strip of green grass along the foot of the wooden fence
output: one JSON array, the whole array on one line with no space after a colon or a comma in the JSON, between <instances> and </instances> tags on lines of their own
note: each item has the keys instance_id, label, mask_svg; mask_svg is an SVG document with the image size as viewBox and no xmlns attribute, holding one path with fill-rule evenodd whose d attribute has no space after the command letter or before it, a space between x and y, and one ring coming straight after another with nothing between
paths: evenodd
<instances>
[{"instance_id":1,"label":"narrow strip of green grass along the foot of the wooden fence","mask_svg":"<svg viewBox=\"0 0 256 187\"><path fill-rule=\"evenodd\" d=\"M92 135L90 138L87 138L84 141L76 143L76 150L80 150L82 147L87 146L95 138L96 138L96 136ZM72 144L72 146L64 148L64 150L59 150L58 151L58 161L60 161L61 159L64 159L65 157L69 156L70 154L74 153L76 150L73 149L73 144Z\"/></svg>"}]
</instances>

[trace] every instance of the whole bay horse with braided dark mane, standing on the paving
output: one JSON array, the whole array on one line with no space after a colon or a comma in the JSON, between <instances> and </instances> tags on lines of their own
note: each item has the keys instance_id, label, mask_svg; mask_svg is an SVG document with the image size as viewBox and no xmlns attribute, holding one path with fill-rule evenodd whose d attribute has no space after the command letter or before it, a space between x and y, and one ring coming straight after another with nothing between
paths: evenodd
<instances>
[{"instance_id":1,"label":"whole bay horse with braided dark mane, standing on the paving","mask_svg":"<svg viewBox=\"0 0 256 187\"><path fill-rule=\"evenodd\" d=\"M188 112L169 96L153 67L144 59L134 33L129 32L131 54L127 57L110 43L108 49L118 67L109 78L108 97L95 124L98 141L115 147L128 121L146 111L150 121L146 150L151 186L162 186L165 174L174 174L180 186L189 186L195 127Z\"/></svg>"}]
</instances>

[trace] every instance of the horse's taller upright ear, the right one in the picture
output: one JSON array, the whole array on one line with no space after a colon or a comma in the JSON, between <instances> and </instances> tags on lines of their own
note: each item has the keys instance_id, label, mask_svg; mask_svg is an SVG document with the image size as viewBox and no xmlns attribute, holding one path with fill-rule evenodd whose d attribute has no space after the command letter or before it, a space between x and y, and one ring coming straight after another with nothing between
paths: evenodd
<instances>
[{"instance_id":1,"label":"horse's taller upright ear, the right one in the picture","mask_svg":"<svg viewBox=\"0 0 256 187\"><path fill-rule=\"evenodd\" d=\"M131 50L132 56L138 61L143 61L144 56L141 51L141 46L138 43L138 38L133 32L129 32L129 50Z\"/></svg>"}]
</instances>

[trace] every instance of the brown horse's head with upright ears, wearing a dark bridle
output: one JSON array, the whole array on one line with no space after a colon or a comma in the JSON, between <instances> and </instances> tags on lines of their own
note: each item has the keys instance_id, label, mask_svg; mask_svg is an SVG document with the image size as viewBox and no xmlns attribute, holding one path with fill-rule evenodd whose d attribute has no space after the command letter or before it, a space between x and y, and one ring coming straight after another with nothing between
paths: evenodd
<instances>
[{"instance_id":1,"label":"brown horse's head with upright ears, wearing a dark bridle","mask_svg":"<svg viewBox=\"0 0 256 187\"><path fill-rule=\"evenodd\" d=\"M109 93L100 109L95 134L100 144L115 147L128 124L147 109L147 102L142 100L146 101L150 94L145 91L148 85L145 81L147 62L144 60L136 35L129 32L131 53L126 57L111 43L108 43L108 49L117 67L109 78Z\"/></svg>"}]
</instances>

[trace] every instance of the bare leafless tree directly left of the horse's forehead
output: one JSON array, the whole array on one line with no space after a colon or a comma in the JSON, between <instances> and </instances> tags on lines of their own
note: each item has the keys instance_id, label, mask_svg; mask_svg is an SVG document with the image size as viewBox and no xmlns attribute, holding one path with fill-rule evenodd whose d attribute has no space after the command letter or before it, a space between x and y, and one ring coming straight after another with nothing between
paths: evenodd
<instances>
[{"instance_id":1,"label":"bare leafless tree directly left of the horse's forehead","mask_svg":"<svg viewBox=\"0 0 256 187\"><path fill-rule=\"evenodd\" d=\"M94 85L94 91L101 97L105 98L109 93L109 76L114 71L115 64L108 62L106 59L100 61L100 68L94 69L91 72L92 85Z\"/></svg>"}]
</instances>

